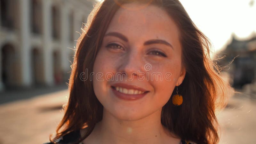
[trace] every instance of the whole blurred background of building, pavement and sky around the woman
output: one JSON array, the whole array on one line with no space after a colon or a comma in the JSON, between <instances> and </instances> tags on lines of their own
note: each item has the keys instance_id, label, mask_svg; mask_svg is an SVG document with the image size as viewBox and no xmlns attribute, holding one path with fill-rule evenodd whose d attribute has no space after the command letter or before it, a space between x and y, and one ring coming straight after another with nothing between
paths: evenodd
<instances>
[{"instance_id":1,"label":"whole blurred background of building, pavement and sky around the woman","mask_svg":"<svg viewBox=\"0 0 256 144\"><path fill-rule=\"evenodd\" d=\"M49 140L68 100L76 40L94 0L0 0L0 144ZM220 144L256 141L255 0L180 0L237 92L218 114Z\"/></svg>"}]
</instances>

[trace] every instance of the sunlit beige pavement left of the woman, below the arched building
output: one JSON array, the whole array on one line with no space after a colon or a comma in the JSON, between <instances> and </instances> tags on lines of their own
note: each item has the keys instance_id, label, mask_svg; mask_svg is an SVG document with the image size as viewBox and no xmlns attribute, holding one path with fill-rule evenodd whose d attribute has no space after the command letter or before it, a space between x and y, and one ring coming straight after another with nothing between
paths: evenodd
<instances>
[{"instance_id":1,"label":"sunlit beige pavement left of the woman, below the arched building","mask_svg":"<svg viewBox=\"0 0 256 144\"><path fill-rule=\"evenodd\" d=\"M68 90L50 92L0 105L0 144L42 144L49 141L63 113Z\"/></svg>"}]
</instances>

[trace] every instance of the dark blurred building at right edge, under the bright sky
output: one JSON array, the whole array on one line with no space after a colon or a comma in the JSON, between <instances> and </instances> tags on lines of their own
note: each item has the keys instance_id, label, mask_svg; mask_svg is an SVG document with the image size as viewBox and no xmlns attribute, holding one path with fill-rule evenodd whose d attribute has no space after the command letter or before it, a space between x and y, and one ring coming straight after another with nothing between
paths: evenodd
<instances>
[{"instance_id":1,"label":"dark blurred building at right edge, under the bright sky","mask_svg":"<svg viewBox=\"0 0 256 144\"><path fill-rule=\"evenodd\" d=\"M221 52L226 56L220 60L219 65L228 66L232 78L232 85L241 88L250 84L256 77L256 33L252 33L246 40L238 40L235 35L225 50ZM234 61L233 61L234 60Z\"/></svg>"}]
</instances>

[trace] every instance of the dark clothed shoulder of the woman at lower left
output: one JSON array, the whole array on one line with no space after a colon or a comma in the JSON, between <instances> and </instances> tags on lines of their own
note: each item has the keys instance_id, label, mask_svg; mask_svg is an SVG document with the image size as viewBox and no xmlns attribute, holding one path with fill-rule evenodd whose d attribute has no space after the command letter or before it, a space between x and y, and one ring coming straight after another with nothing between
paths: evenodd
<instances>
[{"instance_id":1,"label":"dark clothed shoulder of the woman at lower left","mask_svg":"<svg viewBox=\"0 0 256 144\"><path fill-rule=\"evenodd\" d=\"M68 144L68 143L76 142L77 140L79 140L80 137L81 137L80 130L76 130L61 136L59 139L54 140L54 142L58 144ZM44 144L54 144L54 143L46 142Z\"/></svg>"}]
</instances>

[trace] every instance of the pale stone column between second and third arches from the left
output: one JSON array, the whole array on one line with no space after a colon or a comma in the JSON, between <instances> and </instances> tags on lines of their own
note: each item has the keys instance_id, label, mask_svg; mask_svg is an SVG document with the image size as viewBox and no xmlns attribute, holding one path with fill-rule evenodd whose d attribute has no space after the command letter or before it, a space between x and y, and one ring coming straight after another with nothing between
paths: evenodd
<instances>
[{"instance_id":1,"label":"pale stone column between second and third arches from the left","mask_svg":"<svg viewBox=\"0 0 256 144\"><path fill-rule=\"evenodd\" d=\"M54 84L53 77L53 53L52 53L52 18L51 18L51 0L42 0L43 12L43 76L44 83Z\"/></svg>"}]
</instances>

